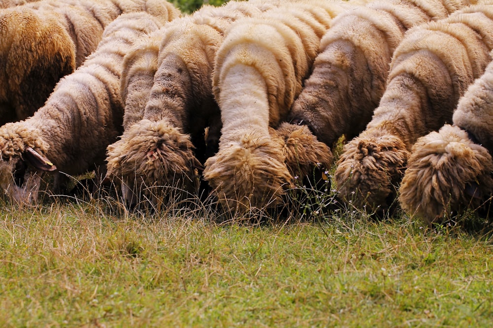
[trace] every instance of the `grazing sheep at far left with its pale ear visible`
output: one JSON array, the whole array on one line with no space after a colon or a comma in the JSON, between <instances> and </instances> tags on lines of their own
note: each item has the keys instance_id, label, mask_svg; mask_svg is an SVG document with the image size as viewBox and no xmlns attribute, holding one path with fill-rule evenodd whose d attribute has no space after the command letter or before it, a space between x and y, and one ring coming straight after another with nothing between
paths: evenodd
<instances>
[{"instance_id":1,"label":"grazing sheep at far left with its pale ear visible","mask_svg":"<svg viewBox=\"0 0 493 328\"><path fill-rule=\"evenodd\" d=\"M168 2L147 9L110 23L96 51L60 80L43 107L0 128L0 186L12 200L35 202L42 172L58 169L73 176L104 163L106 147L122 132L125 54L179 14ZM60 181L55 180L55 190L62 187Z\"/></svg>"}]
</instances>

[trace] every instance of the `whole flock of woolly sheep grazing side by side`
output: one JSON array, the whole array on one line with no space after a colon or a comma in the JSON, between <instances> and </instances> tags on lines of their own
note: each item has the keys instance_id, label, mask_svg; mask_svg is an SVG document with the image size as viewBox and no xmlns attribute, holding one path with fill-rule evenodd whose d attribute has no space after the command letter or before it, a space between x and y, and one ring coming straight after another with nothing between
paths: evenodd
<instances>
[{"instance_id":1,"label":"whole flock of woolly sheep grazing side by side","mask_svg":"<svg viewBox=\"0 0 493 328\"><path fill-rule=\"evenodd\" d=\"M45 172L62 192L95 170L129 206L173 186L275 207L333 165L341 201L369 212L398 203L432 223L492 197L489 0L0 7L0 187L14 202L36 202Z\"/></svg>"}]
</instances>

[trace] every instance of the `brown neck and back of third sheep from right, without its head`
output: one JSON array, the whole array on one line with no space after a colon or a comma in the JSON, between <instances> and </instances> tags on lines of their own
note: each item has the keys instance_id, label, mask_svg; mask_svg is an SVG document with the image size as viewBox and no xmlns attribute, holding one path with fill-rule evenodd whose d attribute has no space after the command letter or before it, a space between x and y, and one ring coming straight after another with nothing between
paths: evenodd
<instances>
[{"instance_id":1,"label":"brown neck and back of third sheep from right, without its head","mask_svg":"<svg viewBox=\"0 0 493 328\"><path fill-rule=\"evenodd\" d=\"M313 72L290 121L332 147L364 130L385 91L388 66L406 30L446 18L469 0L375 0L338 15L320 41Z\"/></svg>"}]
</instances>

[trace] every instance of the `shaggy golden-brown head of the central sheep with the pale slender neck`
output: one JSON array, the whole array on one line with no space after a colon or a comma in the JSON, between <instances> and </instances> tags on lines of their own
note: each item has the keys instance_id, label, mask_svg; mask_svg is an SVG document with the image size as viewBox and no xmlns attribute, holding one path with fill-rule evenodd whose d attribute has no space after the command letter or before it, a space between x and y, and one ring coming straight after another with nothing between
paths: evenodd
<instances>
[{"instance_id":1,"label":"shaggy golden-brown head of the central sheep with the pale slender neck","mask_svg":"<svg viewBox=\"0 0 493 328\"><path fill-rule=\"evenodd\" d=\"M275 206L285 190L293 187L280 148L272 140L255 134L228 143L210 157L204 178L223 207L233 211Z\"/></svg>"}]
</instances>

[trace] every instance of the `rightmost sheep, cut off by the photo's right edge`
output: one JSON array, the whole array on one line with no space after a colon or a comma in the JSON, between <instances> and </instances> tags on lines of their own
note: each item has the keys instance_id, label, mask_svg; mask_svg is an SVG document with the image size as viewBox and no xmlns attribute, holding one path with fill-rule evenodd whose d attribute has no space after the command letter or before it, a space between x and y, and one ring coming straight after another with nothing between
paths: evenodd
<instances>
[{"instance_id":1,"label":"rightmost sheep, cut off by the photo's right edge","mask_svg":"<svg viewBox=\"0 0 493 328\"><path fill-rule=\"evenodd\" d=\"M399 188L402 209L431 225L488 204L493 193L492 97L493 61L459 99L453 125L413 145Z\"/></svg>"}]
</instances>

